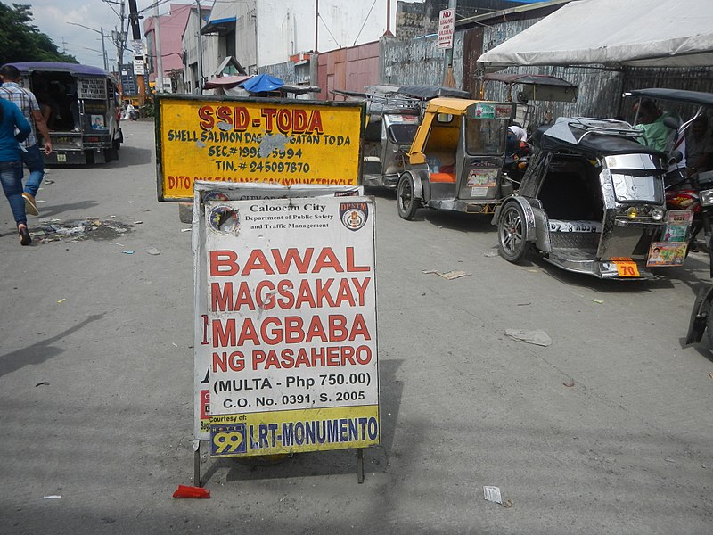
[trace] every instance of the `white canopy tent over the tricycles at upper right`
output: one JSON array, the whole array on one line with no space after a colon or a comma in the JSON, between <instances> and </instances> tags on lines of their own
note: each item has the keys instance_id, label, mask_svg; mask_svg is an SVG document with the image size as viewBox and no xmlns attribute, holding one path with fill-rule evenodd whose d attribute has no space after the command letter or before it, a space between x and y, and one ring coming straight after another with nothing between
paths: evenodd
<instances>
[{"instance_id":1,"label":"white canopy tent over the tricycles at upper right","mask_svg":"<svg viewBox=\"0 0 713 535\"><path fill-rule=\"evenodd\" d=\"M710 67L713 0L576 0L478 59L514 65Z\"/></svg>"}]
</instances>

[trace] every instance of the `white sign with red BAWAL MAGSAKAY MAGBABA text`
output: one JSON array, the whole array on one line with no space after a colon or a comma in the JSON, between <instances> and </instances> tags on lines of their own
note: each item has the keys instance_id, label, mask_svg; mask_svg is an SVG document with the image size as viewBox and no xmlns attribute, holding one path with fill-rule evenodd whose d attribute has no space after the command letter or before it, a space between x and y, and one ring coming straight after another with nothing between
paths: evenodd
<instances>
[{"instance_id":1,"label":"white sign with red BAWAL MAGSAKAY MAGBABA text","mask_svg":"<svg viewBox=\"0 0 713 535\"><path fill-rule=\"evenodd\" d=\"M207 202L214 457L380 441L367 197Z\"/></svg>"}]
</instances>

